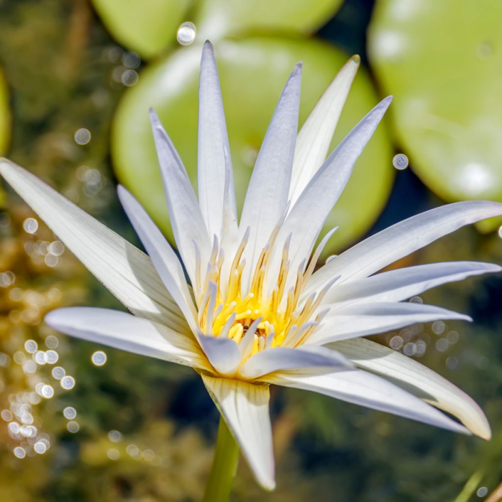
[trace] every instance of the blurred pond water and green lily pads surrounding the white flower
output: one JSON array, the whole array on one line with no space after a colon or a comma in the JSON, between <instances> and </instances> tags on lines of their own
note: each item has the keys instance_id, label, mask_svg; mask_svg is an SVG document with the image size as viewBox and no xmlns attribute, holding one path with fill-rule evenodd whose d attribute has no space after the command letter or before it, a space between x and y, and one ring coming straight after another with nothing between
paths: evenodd
<instances>
[{"instance_id":1,"label":"blurred pond water and green lily pads surrounding the white flower","mask_svg":"<svg viewBox=\"0 0 502 502\"><path fill-rule=\"evenodd\" d=\"M0 153L124 237L121 182L168 237L147 110L196 178L201 45L214 43L237 199L297 61L302 122L341 65L362 66L334 143L388 94L381 124L327 226L324 258L456 200L502 200L502 4L493 0L0 0ZM397 157L395 157L398 155ZM69 339L42 322L63 305L121 308L10 191L0 202L0 500L191 501L218 413L191 370ZM396 267L502 263L501 221L444 237ZM294 390L273 389L278 487L240 462L233 500L496 502L502 496L502 279L414 301L474 323L373 337L419 358L485 410L493 439Z\"/></svg>"}]
</instances>

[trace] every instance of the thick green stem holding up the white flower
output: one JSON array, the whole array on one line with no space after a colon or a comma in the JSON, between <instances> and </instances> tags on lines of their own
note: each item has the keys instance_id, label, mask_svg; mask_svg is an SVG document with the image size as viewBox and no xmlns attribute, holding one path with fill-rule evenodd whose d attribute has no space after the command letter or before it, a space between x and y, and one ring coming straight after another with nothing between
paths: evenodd
<instances>
[{"instance_id":1,"label":"thick green stem holding up the white flower","mask_svg":"<svg viewBox=\"0 0 502 502\"><path fill-rule=\"evenodd\" d=\"M220 416L213 464L202 502L227 502L230 497L238 459L239 447L228 430L223 417Z\"/></svg>"}]
</instances>

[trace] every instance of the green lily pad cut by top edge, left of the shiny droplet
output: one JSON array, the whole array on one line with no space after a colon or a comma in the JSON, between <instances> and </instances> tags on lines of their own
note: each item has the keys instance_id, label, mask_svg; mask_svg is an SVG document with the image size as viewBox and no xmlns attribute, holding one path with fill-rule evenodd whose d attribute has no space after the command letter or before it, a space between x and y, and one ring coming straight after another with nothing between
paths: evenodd
<instances>
[{"instance_id":1,"label":"green lily pad cut by top edge, left of the shiny droplet","mask_svg":"<svg viewBox=\"0 0 502 502\"><path fill-rule=\"evenodd\" d=\"M111 35L145 59L176 40L192 0L92 0Z\"/></svg>"}]
</instances>

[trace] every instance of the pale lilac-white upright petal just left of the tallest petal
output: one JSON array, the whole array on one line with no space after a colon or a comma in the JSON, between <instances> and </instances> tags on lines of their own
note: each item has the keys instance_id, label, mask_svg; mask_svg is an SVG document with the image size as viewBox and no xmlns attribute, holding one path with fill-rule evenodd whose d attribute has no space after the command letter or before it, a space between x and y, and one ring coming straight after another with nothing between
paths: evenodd
<instances>
[{"instance_id":1,"label":"pale lilac-white upright petal just left of the tallest petal","mask_svg":"<svg viewBox=\"0 0 502 502\"><path fill-rule=\"evenodd\" d=\"M174 238L190 281L195 284L193 242L198 243L202 263L205 263L210 252L206 224L185 167L154 110L150 110L150 120Z\"/></svg>"}]
</instances>

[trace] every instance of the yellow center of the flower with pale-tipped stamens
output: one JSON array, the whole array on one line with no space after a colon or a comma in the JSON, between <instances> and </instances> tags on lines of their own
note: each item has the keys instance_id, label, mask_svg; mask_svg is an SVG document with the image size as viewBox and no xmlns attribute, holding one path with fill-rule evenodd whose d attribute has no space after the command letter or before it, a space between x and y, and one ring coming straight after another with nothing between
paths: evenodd
<instances>
[{"instance_id":1,"label":"yellow center of the flower with pale-tipped stamens","mask_svg":"<svg viewBox=\"0 0 502 502\"><path fill-rule=\"evenodd\" d=\"M245 296L241 292L242 273L245 267L242 254L247 244L248 232L242 238L233 258L228 282L224 288L225 294L221 292L223 257L221 252L218 255L216 243L203 283L198 279L200 260L197 260L196 277L199 284L196 285L195 296L200 330L206 335L228 337L237 344L249 330L253 331L253 343L249 343L249 349L243 353L243 361L268 347L280 345L295 347L303 343L327 313L326 310L314 317L327 288L319 295L312 293L304 302L300 301L302 290L314 271L320 249L316 250L307 268L306 260L302 261L296 271L294 286L286 291L290 272L288 259L290 238L286 239L276 284L271 292L267 291L266 277L278 232L279 226L274 229L269 242L262 249ZM249 336L246 338L250 341Z\"/></svg>"}]
</instances>

